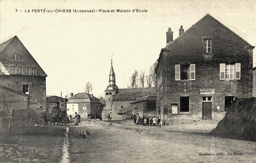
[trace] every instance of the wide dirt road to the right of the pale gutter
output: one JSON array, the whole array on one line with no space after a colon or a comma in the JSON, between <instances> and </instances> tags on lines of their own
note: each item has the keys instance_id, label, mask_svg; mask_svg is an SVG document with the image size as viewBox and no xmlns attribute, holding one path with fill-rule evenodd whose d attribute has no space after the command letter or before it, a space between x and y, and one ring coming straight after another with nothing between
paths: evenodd
<instances>
[{"instance_id":1,"label":"wide dirt road to the right of the pale gutter","mask_svg":"<svg viewBox=\"0 0 256 163\"><path fill-rule=\"evenodd\" d=\"M171 127L81 121L70 125L70 131L88 130L90 136L70 137L70 159L76 163L256 162L256 142L177 132Z\"/></svg>"}]
</instances>

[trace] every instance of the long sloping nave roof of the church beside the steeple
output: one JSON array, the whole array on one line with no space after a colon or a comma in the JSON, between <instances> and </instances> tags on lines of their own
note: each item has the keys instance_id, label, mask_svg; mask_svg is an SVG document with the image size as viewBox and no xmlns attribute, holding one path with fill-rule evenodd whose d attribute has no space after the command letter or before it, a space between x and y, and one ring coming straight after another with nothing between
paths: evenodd
<instances>
[{"instance_id":1,"label":"long sloping nave roof of the church beside the steeple","mask_svg":"<svg viewBox=\"0 0 256 163\"><path fill-rule=\"evenodd\" d=\"M134 101L137 98L156 94L156 88L127 88L127 89L118 89L114 96L113 101Z\"/></svg>"}]
</instances>

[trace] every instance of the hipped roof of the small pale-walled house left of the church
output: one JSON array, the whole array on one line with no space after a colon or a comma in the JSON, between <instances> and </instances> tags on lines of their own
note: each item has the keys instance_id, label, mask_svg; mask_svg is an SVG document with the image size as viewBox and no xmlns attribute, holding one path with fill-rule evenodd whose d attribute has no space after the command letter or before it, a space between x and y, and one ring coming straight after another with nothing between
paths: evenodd
<instances>
[{"instance_id":1,"label":"hipped roof of the small pale-walled house left of the church","mask_svg":"<svg viewBox=\"0 0 256 163\"><path fill-rule=\"evenodd\" d=\"M68 98L67 103L84 103L84 102L92 102L92 103L101 103L100 99L91 96L90 94L84 92L84 93L78 93L74 96L71 96Z\"/></svg>"}]
</instances>

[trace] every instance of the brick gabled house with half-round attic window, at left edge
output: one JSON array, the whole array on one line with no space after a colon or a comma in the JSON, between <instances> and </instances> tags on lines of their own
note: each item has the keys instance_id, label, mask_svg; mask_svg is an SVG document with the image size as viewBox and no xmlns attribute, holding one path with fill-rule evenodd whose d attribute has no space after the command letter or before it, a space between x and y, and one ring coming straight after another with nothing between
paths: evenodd
<instances>
[{"instance_id":1,"label":"brick gabled house with half-round attic window, at left edge","mask_svg":"<svg viewBox=\"0 0 256 163\"><path fill-rule=\"evenodd\" d=\"M0 85L31 96L28 112L35 119L46 110L46 77L17 36L0 44Z\"/></svg>"}]
</instances>

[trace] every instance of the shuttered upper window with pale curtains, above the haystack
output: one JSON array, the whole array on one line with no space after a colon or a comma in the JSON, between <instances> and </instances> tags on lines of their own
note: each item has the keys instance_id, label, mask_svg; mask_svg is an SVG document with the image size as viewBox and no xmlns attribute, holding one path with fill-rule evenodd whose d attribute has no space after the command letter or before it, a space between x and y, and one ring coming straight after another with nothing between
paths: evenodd
<instances>
[{"instance_id":1,"label":"shuttered upper window with pale curtains, above the haystack","mask_svg":"<svg viewBox=\"0 0 256 163\"><path fill-rule=\"evenodd\" d=\"M225 64L220 63L220 80L240 79L241 63Z\"/></svg>"}]
</instances>

